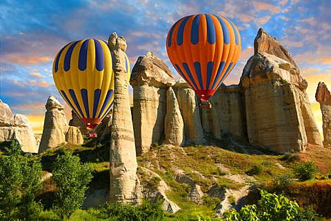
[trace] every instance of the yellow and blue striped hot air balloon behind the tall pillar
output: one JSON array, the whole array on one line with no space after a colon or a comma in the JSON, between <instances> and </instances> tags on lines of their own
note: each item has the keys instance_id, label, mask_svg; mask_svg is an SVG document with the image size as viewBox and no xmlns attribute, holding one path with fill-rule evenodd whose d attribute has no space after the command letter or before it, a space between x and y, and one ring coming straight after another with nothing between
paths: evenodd
<instances>
[{"instance_id":1,"label":"yellow and blue striped hot air balloon behind the tall pillar","mask_svg":"<svg viewBox=\"0 0 331 221\"><path fill-rule=\"evenodd\" d=\"M63 99L88 129L94 129L110 111L114 74L106 41L84 39L64 46L54 59L53 78Z\"/></svg>"}]
</instances>

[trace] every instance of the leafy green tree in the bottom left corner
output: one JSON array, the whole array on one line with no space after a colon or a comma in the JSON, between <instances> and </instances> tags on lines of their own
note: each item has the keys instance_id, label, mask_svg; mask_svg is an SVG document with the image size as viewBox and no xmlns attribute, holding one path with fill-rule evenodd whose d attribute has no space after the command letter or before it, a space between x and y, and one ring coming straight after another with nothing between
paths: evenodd
<instances>
[{"instance_id":1,"label":"leafy green tree in the bottom left corner","mask_svg":"<svg viewBox=\"0 0 331 221\"><path fill-rule=\"evenodd\" d=\"M0 218L2 220L37 220L43 206L35 202L42 187L41 163L21 156L21 146L13 141L0 158Z\"/></svg>"}]
</instances>

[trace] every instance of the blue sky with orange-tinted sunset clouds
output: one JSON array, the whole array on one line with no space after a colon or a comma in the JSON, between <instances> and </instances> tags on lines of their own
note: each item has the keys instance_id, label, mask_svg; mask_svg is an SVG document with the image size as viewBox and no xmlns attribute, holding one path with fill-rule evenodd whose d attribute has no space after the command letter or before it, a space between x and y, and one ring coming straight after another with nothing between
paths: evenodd
<instances>
[{"instance_id":1,"label":"blue sky with orange-tinted sunset clouds","mask_svg":"<svg viewBox=\"0 0 331 221\"><path fill-rule=\"evenodd\" d=\"M308 81L308 95L320 128L321 111L314 94L319 81L331 88L331 1L329 0L2 0L0 1L0 99L14 114L26 115L41 133L48 96L71 109L52 78L57 52L79 39L123 36L131 68L151 51L179 78L165 49L171 26L190 14L219 14L241 34L241 56L225 85L239 83L254 54L259 28L274 36L291 54ZM130 89L132 92L132 89Z\"/></svg>"}]
</instances>

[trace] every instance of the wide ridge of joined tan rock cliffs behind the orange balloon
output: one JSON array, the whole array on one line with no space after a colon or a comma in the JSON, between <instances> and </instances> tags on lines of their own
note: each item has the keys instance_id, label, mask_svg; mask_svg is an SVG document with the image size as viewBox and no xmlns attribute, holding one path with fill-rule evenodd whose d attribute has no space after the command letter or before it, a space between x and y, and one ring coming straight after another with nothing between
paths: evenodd
<instances>
[{"instance_id":1,"label":"wide ridge of joined tan rock cliffs behind the orange balloon","mask_svg":"<svg viewBox=\"0 0 331 221\"><path fill-rule=\"evenodd\" d=\"M199 109L190 85L183 79L174 83L163 64L148 52L132 70L138 156L156 143L199 145L205 134L218 139L231 134L279 153L304 151L308 143L322 145L305 92L307 81L288 51L263 29L254 39L254 55L239 85L221 85L210 99L211 109ZM174 133L178 140L170 141Z\"/></svg>"}]
</instances>

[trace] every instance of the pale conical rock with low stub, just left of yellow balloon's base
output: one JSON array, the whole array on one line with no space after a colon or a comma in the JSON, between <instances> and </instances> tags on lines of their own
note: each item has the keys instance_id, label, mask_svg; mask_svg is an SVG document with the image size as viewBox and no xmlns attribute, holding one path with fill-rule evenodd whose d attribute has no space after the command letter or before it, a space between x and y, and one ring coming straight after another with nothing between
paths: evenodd
<instances>
[{"instance_id":1,"label":"pale conical rock with low stub, just left of yellow balloon's base","mask_svg":"<svg viewBox=\"0 0 331 221\"><path fill-rule=\"evenodd\" d=\"M50 96L45 105L46 113L43 123L43 135L41 136L39 153L48 148L58 147L63 143L82 145L83 137L77 127L69 126L64 114L64 106L57 98Z\"/></svg>"}]
</instances>

